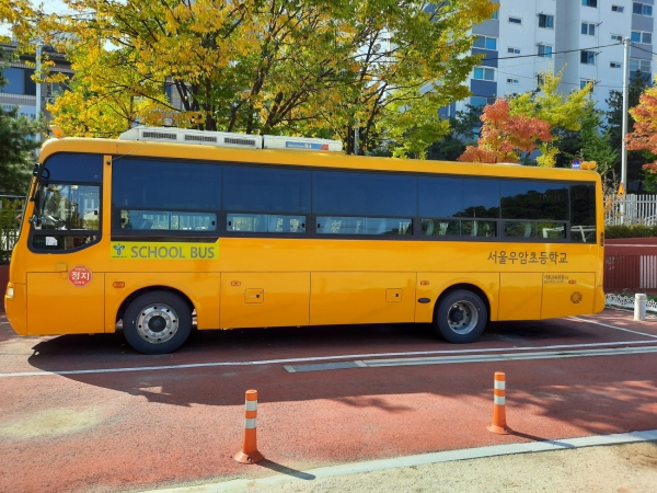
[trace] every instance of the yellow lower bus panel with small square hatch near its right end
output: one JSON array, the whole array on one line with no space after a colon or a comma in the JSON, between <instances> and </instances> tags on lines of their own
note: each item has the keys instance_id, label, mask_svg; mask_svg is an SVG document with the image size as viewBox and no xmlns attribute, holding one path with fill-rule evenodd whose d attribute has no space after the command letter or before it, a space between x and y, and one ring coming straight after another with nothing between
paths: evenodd
<instances>
[{"instance_id":1,"label":"yellow lower bus panel with small square hatch near its right end","mask_svg":"<svg viewBox=\"0 0 657 493\"><path fill-rule=\"evenodd\" d=\"M415 321L416 274L313 272L311 325Z\"/></svg>"}]
</instances>

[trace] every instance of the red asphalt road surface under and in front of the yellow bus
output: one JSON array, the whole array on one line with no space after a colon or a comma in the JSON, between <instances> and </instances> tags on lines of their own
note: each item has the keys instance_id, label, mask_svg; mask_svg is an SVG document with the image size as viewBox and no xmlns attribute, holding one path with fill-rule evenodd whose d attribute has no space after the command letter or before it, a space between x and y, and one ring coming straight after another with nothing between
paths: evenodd
<instances>
[{"instance_id":1,"label":"red asphalt road surface under and in front of the yellow bus","mask_svg":"<svg viewBox=\"0 0 657 493\"><path fill-rule=\"evenodd\" d=\"M424 325L21 339L0 316L0 492L115 492L530 440L657 428L657 320L493 323L457 346ZM514 434L486 431L507 376ZM235 462L244 391L258 448Z\"/></svg>"}]
</instances>

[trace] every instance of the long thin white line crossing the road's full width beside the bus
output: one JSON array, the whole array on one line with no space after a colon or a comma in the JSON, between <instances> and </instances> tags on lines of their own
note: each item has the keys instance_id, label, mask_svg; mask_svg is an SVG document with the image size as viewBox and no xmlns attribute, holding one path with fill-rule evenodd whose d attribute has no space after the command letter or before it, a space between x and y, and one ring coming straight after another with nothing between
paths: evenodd
<instances>
[{"instance_id":1,"label":"long thin white line crossing the road's full width beside the bus","mask_svg":"<svg viewBox=\"0 0 657 493\"><path fill-rule=\"evenodd\" d=\"M556 344L551 346L532 346L532 347L484 347L473 349L450 349L450 351L416 351L406 353L371 353L371 354L349 354L335 356L315 356L306 358L284 358L284 359L264 359L255 362L214 362L214 363L192 363L186 365L162 365L162 366L139 366L139 367L120 367L120 368L99 368L99 369L80 369L80 370L55 370L55 371L14 371L0 374L0 378L13 377L47 377L47 376L67 376L67 375L88 375L88 374L119 374L132 371L161 371L170 369L187 369L187 368L214 368L224 366L258 366L258 365L280 365L306 362L328 362L336 359L362 360L367 358L381 358L389 356L429 356L429 355L459 355L472 353L499 353L506 352L526 352L526 351L545 351L545 349L570 349L581 347L601 347L601 346L632 346L643 344L655 344L655 341L616 341L608 343L590 343L590 344ZM657 351L657 346L655 346ZM527 358L526 358L527 359ZM348 362L347 362L348 363Z\"/></svg>"}]
</instances>

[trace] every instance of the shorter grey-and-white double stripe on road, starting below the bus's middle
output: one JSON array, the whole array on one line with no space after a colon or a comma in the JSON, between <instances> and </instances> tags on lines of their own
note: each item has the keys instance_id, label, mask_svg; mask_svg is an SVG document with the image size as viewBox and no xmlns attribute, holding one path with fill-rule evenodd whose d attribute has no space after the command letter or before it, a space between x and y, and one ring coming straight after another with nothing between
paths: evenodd
<instances>
[{"instance_id":1,"label":"shorter grey-and-white double stripe on road, starting below the bus's middle","mask_svg":"<svg viewBox=\"0 0 657 493\"><path fill-rule=\"evenodd\" d=\"M326 371L344 368L380 368L387 366L418 366L418 365L452 365L459 363L491 363L491 362L516 362L523 359L560 359L578 358L585 356L621 356L629 354L657 353L657 346L648 347L618 347L609 349L583 349L540 353L506 353L491 355L471 356L439 356L420 358L394 358L394 359L361 359L355 362L324 363L313 365L284 365L290 374L303 371Z\"/></svg>"}]
</instances>

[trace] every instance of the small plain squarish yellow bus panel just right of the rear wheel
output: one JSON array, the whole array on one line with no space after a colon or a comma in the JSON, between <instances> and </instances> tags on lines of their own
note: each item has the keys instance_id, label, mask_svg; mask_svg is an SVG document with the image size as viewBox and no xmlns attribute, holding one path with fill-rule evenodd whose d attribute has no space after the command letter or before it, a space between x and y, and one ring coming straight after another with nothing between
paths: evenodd
<instances>
[{"instance_id":1,"label":"small plain squarish yellow bus panel just right of the rear wheel","mask_svg":"<svg viewBox=\"0 0 657 493\"><path fill-rule=\"evenodd\" d=\"M540 272L500 273L497 320L538 320L541 317L542 276Z\"/></svg>"}]
</instances>

